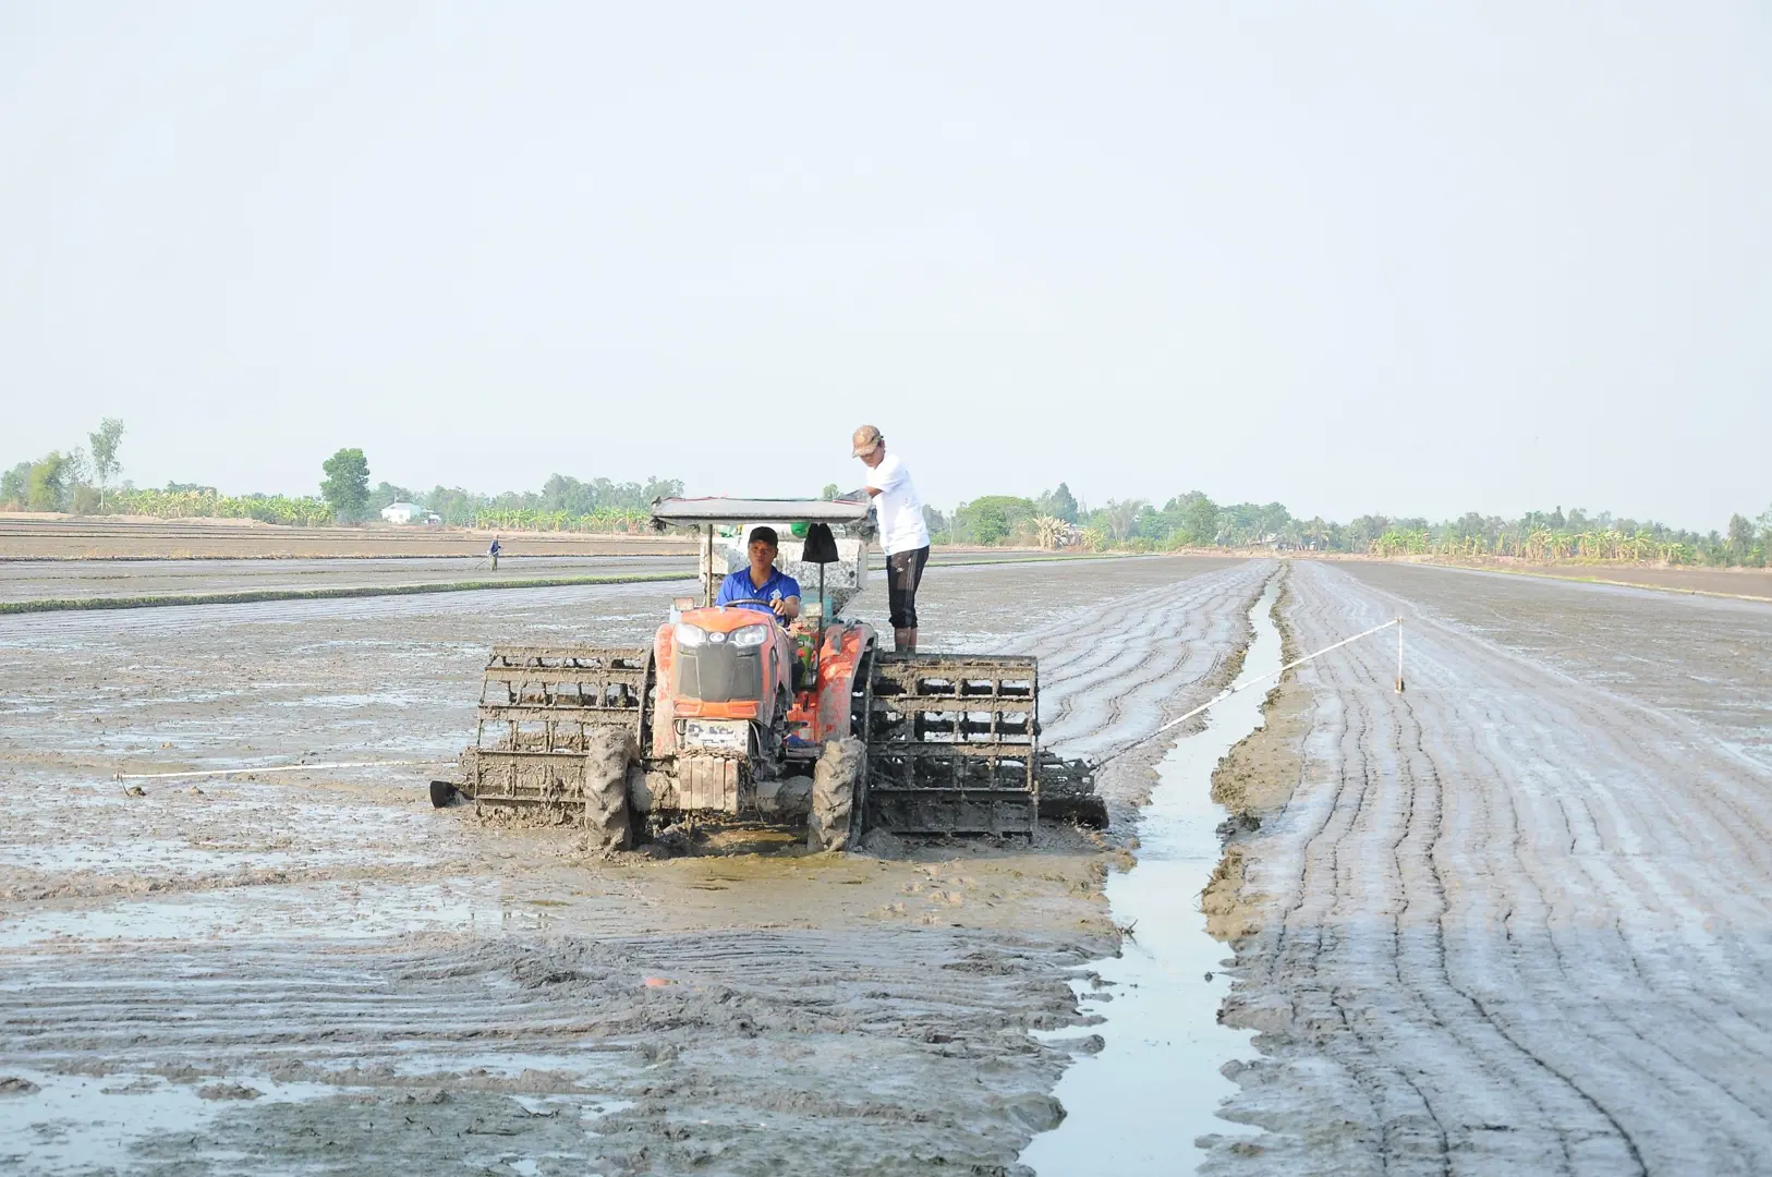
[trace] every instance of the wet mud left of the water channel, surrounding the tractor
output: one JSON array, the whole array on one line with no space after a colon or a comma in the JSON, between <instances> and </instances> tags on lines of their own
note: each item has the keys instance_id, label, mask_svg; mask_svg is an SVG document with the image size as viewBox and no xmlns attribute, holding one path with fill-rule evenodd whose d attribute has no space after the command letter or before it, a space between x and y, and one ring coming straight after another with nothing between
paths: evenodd
<instances>
[{"instance_id":1,"label":"wet mud left of the water channel, surrounding the tractor","mask_svg":"<svg viewBox=\"0 0 1772 1177\"><path fill-rule=\"evenodd\" d=\"M1223 681L1272 567L948 569L920 610L1038 654L1047 743L1093 753ZM643 640L668 596L0 619L28 684L0 702L0 1168L1010 1170L1088 1049L1123 831L641 861L431 810L422 768L110 780L447 760L487 645ZM1108 773L1122 815L1152 759Z\"/></svg>"}]
</instances>

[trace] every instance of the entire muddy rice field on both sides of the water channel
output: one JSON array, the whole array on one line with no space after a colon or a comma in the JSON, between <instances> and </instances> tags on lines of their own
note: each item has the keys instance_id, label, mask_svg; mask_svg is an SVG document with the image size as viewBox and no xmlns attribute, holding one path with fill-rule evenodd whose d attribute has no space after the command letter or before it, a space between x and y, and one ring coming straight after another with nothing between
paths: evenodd
<instances>
[{"instance_id":1,"label":"entire muddy rice field on both sides of the water channel","mask_svg":"<svg viewBox=\"0 0 1772 1177\"><path fill-rule=\"evenodd\" d=\"M1223 1134L1148 1126L1173 1172L1772 1170L1767 604L1379 562L932 569L929 649L1038 654L1045 743L1131 748L1115 828L1033 846L597 856L432 810L443 766L113 780L448 760L491 643L638 642L673 592L0 617L0 1172L1028 1172L1102 1048L1092 963L1139 945L1104 879L1148 737L1269 603L1294 652L1402 615L1405 691L1395 631L1310 663L1212 782L1232 987L1198 1016L1251 1039Z\"/></svg>"}]
</instances>

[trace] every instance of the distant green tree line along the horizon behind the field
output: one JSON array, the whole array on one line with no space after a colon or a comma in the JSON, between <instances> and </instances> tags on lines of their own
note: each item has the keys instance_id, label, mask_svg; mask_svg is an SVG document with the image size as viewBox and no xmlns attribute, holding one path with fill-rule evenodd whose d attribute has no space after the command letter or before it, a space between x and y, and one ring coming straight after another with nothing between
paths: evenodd
<instances>
[{"instance_id":1,"label":"distant green tree line along the horizon behind the field","mask_svg":"<svg viewBox=\"0 0 1772 1177\"><path fill-rule=\"evenodd\" d=\"M558 532L633 532L647 525L654 498L684 493L682 479L643 482L576 479L553 473L539 491L480 495L438 484L413 491L386 480L370 486L361 448L340 448L321 464L319 495L222 495L214 487L168 482L136 487L113 479L122 470L124 424L105 418L87 434L89 447L55 450L0 473L0 509L67 514L142 514L158 518L250 518L282 525L330 525L377 519L397 502L415 503L448 526ZM836 495L826 486L824 496ZM1692 565L1765 567L1772 555L1772 509L1756 518L1733 514L1726 530L1708 534L1653 519L1561 507L1515 519L1467 512L1426 518L1366 514L1350 523L1297 518L1281 503L1216 503L1201 491L1162 507L1143 498L1111 498L1100 507L1079 500L1065 482L1033 498L982 495L952 512L925 507L939 544L1083 548L1088 551L1177 551L1185 548L1325 551L1352 555L1437 555L1519 560L1620 560Z\"/></svg>"}]
</instances>

